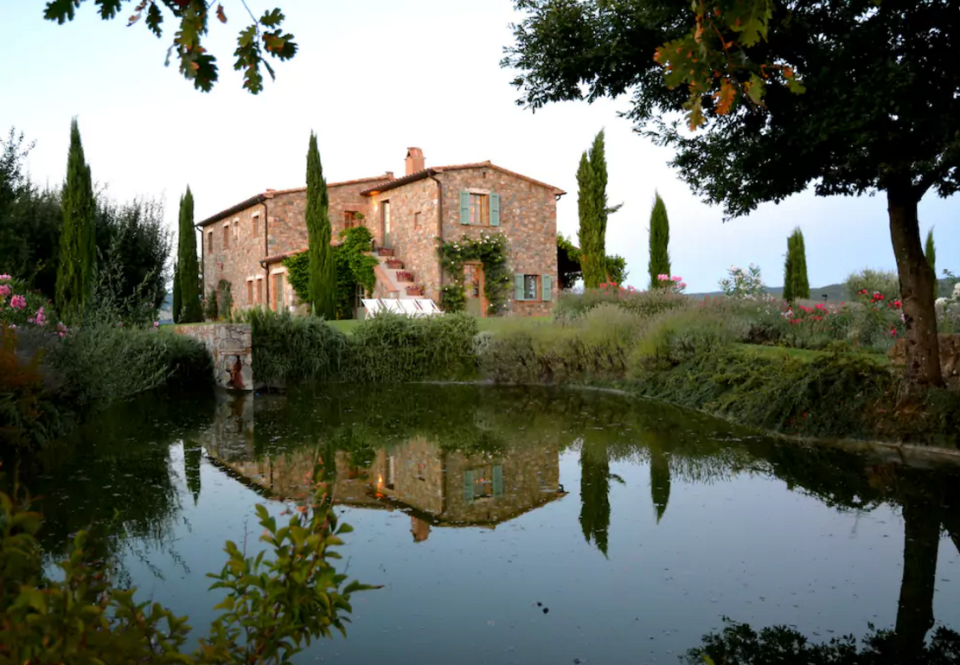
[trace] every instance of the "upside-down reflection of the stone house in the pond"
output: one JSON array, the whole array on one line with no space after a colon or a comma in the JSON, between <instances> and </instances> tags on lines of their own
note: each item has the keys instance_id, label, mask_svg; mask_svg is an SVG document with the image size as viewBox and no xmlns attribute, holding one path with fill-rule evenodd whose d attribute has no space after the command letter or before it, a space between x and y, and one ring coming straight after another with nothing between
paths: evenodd
<instances>
[{"instance_id":1,"label":"upside-down reflection of the stone house in the pond","mask_svg":"<svg viewBox=\"0 0 960 665\"><path fill-rule=\"evenodd\" d=\"M242 476L265 496L302 496L315 461L300 449L253 459L249 449L228 455L208 448L219 466ZM400 509L411 515L417 542L431 526L488 526L510 520L561 496L556 446L529 446L503 453L468 454L443 450L423 438L377 451L368 468L348 453L336 454L333 500L337 505Z\"/></svg>"}]
</instances>

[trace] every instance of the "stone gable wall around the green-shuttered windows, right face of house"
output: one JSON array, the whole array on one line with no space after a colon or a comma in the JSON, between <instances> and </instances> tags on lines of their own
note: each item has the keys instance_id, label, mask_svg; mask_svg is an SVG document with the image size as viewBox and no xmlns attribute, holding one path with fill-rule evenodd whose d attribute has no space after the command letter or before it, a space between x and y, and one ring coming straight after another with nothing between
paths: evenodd
<instances>
[{"instance_id":1,"label":"stone gable wall around the green-shuttered windows, right face of house","mask_svg":"<svg viewBox=\"0 0 960 665\"><path fill-rule=\"evenodd\" d=\"M504 233L510 241L508 264L513 274L549 275L550 302L515 301L510 285L510 312L515 316L544 316L559 293L557 275L557 201L552 189L497 169L477 167L440 173L443 183L443 238L476 239L482 232ZM500 195L500 226L460 223L460 192Z\"/></svg>"}]
</instances>

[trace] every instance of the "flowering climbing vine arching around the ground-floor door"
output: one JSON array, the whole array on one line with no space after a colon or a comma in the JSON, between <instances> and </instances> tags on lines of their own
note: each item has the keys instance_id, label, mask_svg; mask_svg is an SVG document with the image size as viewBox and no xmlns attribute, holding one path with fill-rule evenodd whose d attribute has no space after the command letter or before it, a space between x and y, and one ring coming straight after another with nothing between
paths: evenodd
<instances>
[{"instance_id":1,"label":"flowering climbing vine arching around the ground-floor door","mask_svg":"<svg viewBox=\"0 0 960 665\"><path fill-rule=\"evenodd\" d=\"M506 310L511 278L507 270L509 241L502 233L481 233L477 239L463 236L460 240L441 242L440 265L453 280L443 287L443 308L448 312L460 312L466 308L467 295L464 286L463 267L468 261L483 264L484 296L487 299L487 314L496 316Z\"/></svg>"}]
</instances>

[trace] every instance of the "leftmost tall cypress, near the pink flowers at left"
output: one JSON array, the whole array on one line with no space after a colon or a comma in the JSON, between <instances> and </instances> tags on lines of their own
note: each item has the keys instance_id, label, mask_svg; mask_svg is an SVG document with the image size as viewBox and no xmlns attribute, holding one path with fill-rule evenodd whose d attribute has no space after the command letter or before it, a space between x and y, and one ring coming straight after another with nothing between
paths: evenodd
<instances>
[{"instance_id":1,"label":"leftmost tall cypress, near the pink flowers at left","mask_svg":"<svg viewBox=\"0 0 960 665\"><path fill-rule=\"evenodd\" d=\"M70 151L67 153L62 209L56 301L63 320L76 322L93 292L97 257L93 180L83 155L76 118L70 122Z\"/></svg>"}]
</instances>

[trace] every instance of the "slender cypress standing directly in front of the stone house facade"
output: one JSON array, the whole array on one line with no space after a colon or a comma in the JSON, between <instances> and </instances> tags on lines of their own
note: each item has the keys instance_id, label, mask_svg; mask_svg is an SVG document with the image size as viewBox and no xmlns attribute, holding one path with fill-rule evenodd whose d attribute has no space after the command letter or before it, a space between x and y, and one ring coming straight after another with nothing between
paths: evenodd
<instances>
[{"instance_id":1,"label":"slender cypress standing directly in front of the stone house facade","mask_svg":"<svg viewBox=\"0 0 960 665\"><path fill-rule=\"evenodd\" d=\"M310 256L310 308L314 315L333 320L337 307L337 264L330 244L330 199L317 148L310 132L307 150L307 252Z\"/></svg>"}]
</instances>

